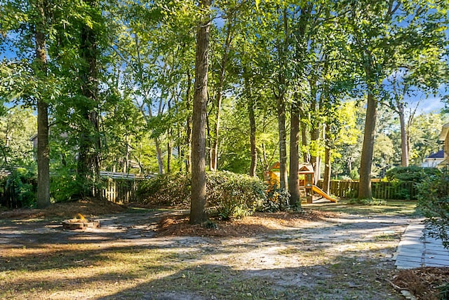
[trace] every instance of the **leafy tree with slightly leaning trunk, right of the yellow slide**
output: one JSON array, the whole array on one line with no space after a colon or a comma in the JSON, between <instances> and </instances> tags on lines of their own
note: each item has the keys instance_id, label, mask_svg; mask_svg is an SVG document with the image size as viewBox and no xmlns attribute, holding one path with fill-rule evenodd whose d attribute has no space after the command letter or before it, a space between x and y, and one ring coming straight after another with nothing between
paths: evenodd
<instances>
[{"instance_id":1,"label":"leafy tree with slightly leaning trunk, right of the yellow slide","mask_svg":"<svg viewBox=\"0 0 449 300\"><path fill-rule=\"evenodd\" d=\"M440 32L447 23L447 4L421 1L351 2L348 6L347 29L351 34L348 61L361 70L366 88L366 122L360 168L358 198L372 198L371 162L375 140L377 105L382 101L382 83L389 69L398 62L398 55L409 49L425 48L429 32ZM408 16L405 18L405 16Z\"/></svg>"}]
</instances>

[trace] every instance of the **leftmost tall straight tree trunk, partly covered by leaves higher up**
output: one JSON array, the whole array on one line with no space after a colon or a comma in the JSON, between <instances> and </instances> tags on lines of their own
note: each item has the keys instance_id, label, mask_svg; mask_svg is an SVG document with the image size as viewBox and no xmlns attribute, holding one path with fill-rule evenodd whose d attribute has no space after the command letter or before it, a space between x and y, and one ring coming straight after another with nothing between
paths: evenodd
<instances>
[{"instance_id":1,"label":"leftmost tall straight tree trunk, partly covered by leaves higher up","mask_svg":"<svg viewBox=\"0 0 449 300\"><path fill-rule=\"evenodd\" d=\"M36 60L39 73L46 76L47 55L44 32L46 20L46 1L36 1L36 10L41 18L36 24ZM50 205L50 148L48 146L48 104L42 96L37 99L37 208Z\"/></svg>"}]
</instances>

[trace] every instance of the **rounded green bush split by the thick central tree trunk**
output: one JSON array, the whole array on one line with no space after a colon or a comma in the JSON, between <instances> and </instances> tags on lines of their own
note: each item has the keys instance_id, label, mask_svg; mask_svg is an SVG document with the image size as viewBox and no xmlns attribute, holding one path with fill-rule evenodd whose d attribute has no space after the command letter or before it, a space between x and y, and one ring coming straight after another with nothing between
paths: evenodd
<instances>
[{"instance_id":1,"label":"rounded green bush split by the thick central tree trunk","mask_svg":"<svg viewBox=\"0 0 449 300\"><path fill-rule=\"evenodd\" d=\"M191 175L158 175L138 186L136 196L154 205L190 205ZM253 214L265 198L264 183L232 172L208 173L206 205L220 219L239 219Z\"/></svg>"}]
</instances>

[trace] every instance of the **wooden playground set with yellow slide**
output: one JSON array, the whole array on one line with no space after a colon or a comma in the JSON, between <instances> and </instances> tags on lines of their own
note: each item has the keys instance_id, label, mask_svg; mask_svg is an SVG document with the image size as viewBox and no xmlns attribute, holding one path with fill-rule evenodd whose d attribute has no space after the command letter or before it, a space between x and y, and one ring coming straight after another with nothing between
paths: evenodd
<instances>
[{"instance_id":1,"label":"wooden playground set with yellow slide","mask_svg":"<svg viewBox=\"0 0 449 300\"><path fill-rule=\"evenodd\" d=\"M298 184L300 185L300 191L306 196L307 203L313 203L314 200L326 198L330 202L336 203L337 199L332 198L325 191L314 185L314 168L309 163L302 163L298 168ZM274 163L267 172L267 182L269 186L279 186L280 174L279 174L279 162ZM314 196L315 194L319 196Z\"/></svg>"}]
</instances>

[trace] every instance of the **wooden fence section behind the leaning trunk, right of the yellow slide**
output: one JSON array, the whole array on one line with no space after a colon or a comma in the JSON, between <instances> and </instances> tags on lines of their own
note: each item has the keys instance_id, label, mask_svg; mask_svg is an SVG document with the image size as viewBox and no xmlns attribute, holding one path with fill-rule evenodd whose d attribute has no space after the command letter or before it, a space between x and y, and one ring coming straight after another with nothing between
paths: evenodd
<instances>
[{"instance_id":1,"label":"wooden fence section behind the leaning trunk, right of the yellow slide","mask_svg":"<svg viewBox=\"0 0 449 300\"><path fill-rule=\"evenodd\" d=\"M390 200L416 200L417 189L414 182L371 182L373 198ZM331 180L330 193L340 198L357 198L358 182Z\"/></svg>"}]
</instances>

